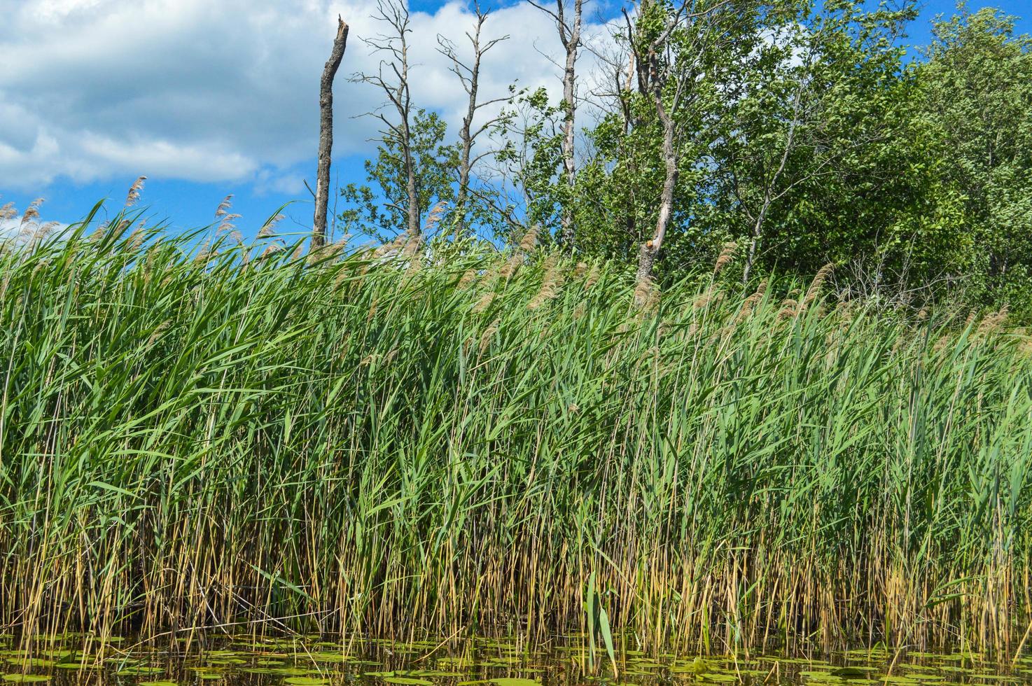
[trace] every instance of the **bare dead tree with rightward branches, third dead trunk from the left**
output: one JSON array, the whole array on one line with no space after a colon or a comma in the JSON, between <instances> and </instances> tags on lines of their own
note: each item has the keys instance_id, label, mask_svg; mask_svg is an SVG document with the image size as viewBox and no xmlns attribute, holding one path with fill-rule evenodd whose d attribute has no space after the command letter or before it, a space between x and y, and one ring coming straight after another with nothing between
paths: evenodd
<instances>
[{"instance_id":1,"label":"bare dead tree with rightward branches, third dead trunk from the left","mask_svg":"<svg viewBox=\"0 0 1032 686\"><path fill-rule=\"evenodd\" d=\"M506 34L499 38L483 40L482 33L484 23L488 18L488 12L481 9L480 4L476 3L474 4L474 15L476 21L474 23L473 31L465 32L465 37L470 40L470 45L473 48L473 58L469 63L462 60L458 54L458 50L451 40L438 35L438 52L451 61L451 71L458 76L459 83L462 84L462 89L465 91L467 97L465 115L462 117L462 126L458 131L458 139L462 149L459 153L458 191L455 195L455 215L457 218L455 227L456 235L461 235L465 232L466 205L469 204L470 178L473 173L473 168L481 159L491 154L491 151L486 151L474 156L474 145L477 142L477 138L490 129L492 125L497 123L502 117L493 117L480 123L476 127L474 126L474 119L481 109L490 107L491 105L509 99L509 96L491 98L483 101L479 99L480 67L483 63L484 55L486 55L488 51L497 45L499 42L508 40L509 35Z\"/></svg>"}]
</instances>

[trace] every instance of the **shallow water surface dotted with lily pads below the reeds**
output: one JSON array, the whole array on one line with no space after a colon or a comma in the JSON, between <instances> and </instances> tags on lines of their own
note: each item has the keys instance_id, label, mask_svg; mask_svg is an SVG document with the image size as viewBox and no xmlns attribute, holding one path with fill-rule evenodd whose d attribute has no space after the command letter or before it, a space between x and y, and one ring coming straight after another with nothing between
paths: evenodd
<instances>
[{"instance_id":1,"label":"shallow water surface dotted with lily pads below the reeds","mask_svg":"<svg viewBox=\"0 0 1032 686\"><path fill-rule=\"evenodd\" d=\"M626 650L617 671L582 641L527 650L516 641L333 642L321 638L131 639L37 636L29 651L0 635L5 683L53 686L682 686L814 684L945 686L1032 683L1032 656L1001 663L969 652L854 650L785 655L648 656ZM566 645L560 645L566 644Z\"/></svg>"}]
</instances>

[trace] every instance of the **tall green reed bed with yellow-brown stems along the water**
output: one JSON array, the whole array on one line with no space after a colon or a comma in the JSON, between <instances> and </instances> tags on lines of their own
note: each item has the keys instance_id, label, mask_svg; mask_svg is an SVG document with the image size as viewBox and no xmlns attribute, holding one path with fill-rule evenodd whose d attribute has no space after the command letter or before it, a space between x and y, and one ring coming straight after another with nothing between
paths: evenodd
<instances>
[{"instance_id":1,"label":"tall green reed bed with yellow-brown stems along the water","mask_svg":"<svg viewBox=\"0 0 1032 686\"><path fill-rule=\"evenodd\" d=\"M3 626L1027 638L1032 364L1002 314L709 271L641 304L533 240L198 252L135 219L0 255Z\"/></svg>"}]
</instances>

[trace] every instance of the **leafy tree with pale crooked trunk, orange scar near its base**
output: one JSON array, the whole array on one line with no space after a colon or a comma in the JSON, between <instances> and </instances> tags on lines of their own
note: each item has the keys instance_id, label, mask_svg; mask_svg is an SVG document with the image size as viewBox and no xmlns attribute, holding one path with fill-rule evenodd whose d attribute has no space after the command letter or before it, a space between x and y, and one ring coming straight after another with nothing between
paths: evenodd
<instances>
[{"instance_id":1,"label":"leafy tree with pale crooked trunk, orange scar near its base","mask_svg":"<svg viewBox=\"0 0 1032 686\"><path fill-rule=\"evenodd\" d=\"M590 132L594 155L573 196L583 250L636 260L646 281L717 240L699 223L709 211L712 122L769 5L644 0L626 15L609 61L610 111Z\"/></svg>"}]
</instances>

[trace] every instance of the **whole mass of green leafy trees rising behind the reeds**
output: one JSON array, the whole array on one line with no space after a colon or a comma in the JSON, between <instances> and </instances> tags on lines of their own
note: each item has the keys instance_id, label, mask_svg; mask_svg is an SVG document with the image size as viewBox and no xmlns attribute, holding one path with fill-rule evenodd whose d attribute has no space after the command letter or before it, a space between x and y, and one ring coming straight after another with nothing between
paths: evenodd
<instances>
[{"instance_id":1,"label":"whole mass of green leafy trees rising behind the reeds","mask_svg":"<svg viewBox=\"0 0 1032 686\"><path fill-rule=\"evenodd\" d=\"M746 282L831 263L840 290L914 312L963 297L1028 318L1032 39L960 5L931 44L908 48L914 17L860 0L642 0L585 39L576 160L561 149L567 103L514 91L475 151L471 201L442 231L510 241L539 226L567 251L628 263L662 243L663 284L735 240ZM413 150L436 151L415 170L421 216L454 197L436 124L411 127ZM405 206L397 136L385 140L372 190L347 190L356 208ZM349 231L366 226L356 211ZM392 226L367 226L404 229L391 211Z\"/></svg>"}]
</instances>

